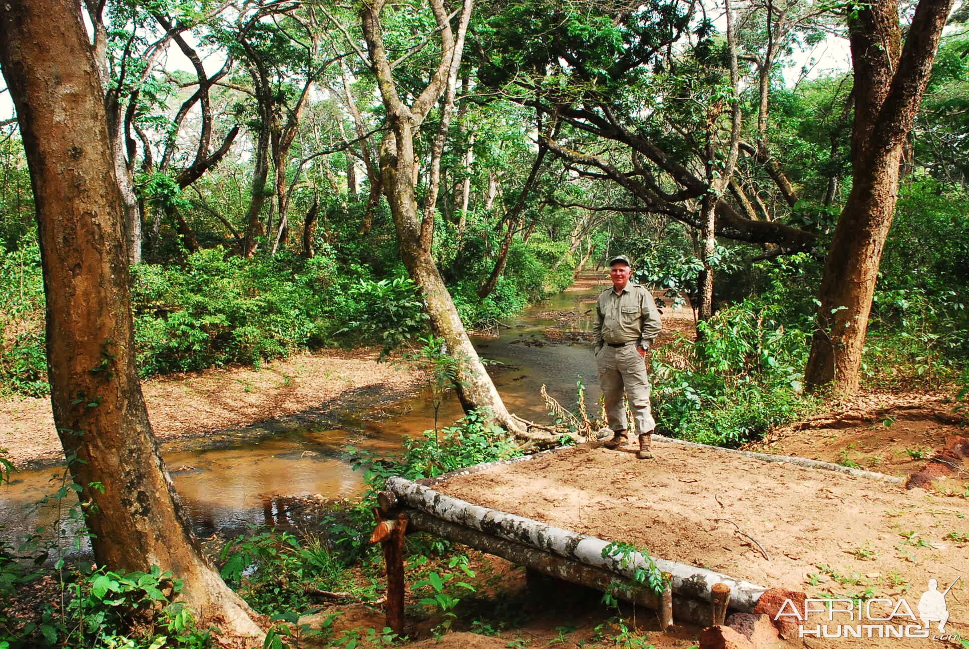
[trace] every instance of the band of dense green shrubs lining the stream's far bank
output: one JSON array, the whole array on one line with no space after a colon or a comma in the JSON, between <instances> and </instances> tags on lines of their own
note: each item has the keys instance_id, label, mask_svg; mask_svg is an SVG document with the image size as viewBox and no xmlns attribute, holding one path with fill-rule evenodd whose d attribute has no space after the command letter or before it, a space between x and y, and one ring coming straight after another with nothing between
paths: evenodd
<instances>
[{"instance_id":1,"label":"band of dense green shrubs lining the stream's far bank","mask_svg":"<svg viewBox=\"0 0 969 649\"><path fill-rule=\"evenodd\" d=\"M386 240L386 241L385 241ZM382 242L382 243L381 243ZM382 238L378 248L395 245ZM484 256L453 278L453 297L468 326L505 318L571 282L562 243L516 243L498 285L477 295ZM221 246L184 256L180 264L132 268L135 342L142 376L258 364L298 349L379 344L384 351L426 329L422 297L391 255L374 276L362 263L360 240L340 249L321 243L317 255L290 252L243 259ZM370 250L372 253L373 250ZM348 261L349 260L349 261ZM554 272L551 269L554 268ZM0 386L5 393L47 393L44 292L36 244L0 257Z\"/></svg>"}]
</instances>

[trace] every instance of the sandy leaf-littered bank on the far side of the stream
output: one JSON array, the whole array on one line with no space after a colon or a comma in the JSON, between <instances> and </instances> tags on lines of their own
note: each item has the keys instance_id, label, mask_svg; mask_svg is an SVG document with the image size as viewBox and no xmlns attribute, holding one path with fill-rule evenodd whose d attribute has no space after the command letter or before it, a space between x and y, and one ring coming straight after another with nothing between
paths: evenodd
<instances>
[{"instance_id":1,"label":"sandy leaf-littered bank on the far side of the stream","mask_svg":"<svg viewBox=\"0 0 969 649\"><path fill-rule=\"evenodd\" d=\"M421 388L422 373L400 363L378 363L376 349L327 350L266 363L176 373L144 381L141 389L155 435L175 440L219 435L259 425L278 430L326 420L336 406L369 410ZM0 404L0 448L18 469L60 462L50 400Z\"/></svg>"}]
</instances>

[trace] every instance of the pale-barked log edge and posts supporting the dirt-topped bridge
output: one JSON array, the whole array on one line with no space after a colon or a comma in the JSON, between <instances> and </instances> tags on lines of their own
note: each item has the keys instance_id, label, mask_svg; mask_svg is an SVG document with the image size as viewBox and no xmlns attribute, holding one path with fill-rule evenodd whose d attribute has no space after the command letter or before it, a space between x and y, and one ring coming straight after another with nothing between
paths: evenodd
<instances>
[{"instance_id":1,"label":"pale-barked log edge and posts supporting the dirt-topped bridge","mask_svg":"<svg viewBox=\"0 0 969 649\"><path fill-rule=\"evenodd\" d=\"M504 462L502 463L504 464ZM479 465L467 473L491 465ZM661 627L673 619L708 627L722 625L728 608L750 612L766 591L763 586L726 574L643 556L612 556L610 541L556 528L504 511L468 503L431 488L449 474L412 481L391 477L378 495L377 527L370 542L380 542L387 562L387 626L404 633L404 535L429 532L548 576L609 593L657 611ZM636 580L637 571L655 565L664 590L653 593Z\"/></svg>"}]
</instances>

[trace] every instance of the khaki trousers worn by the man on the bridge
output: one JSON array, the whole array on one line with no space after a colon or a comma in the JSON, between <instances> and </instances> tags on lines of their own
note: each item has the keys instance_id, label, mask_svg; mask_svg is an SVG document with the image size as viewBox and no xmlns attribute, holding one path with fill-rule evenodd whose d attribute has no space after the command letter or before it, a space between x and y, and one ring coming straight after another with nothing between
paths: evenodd
<instances>
[{"instance_id":1,"label":"khaki trousers worn by the man on the bridge","mask_svg":"<svg viewBox=\"0 0 969 649\"><path fill-rule=\"evenodd\" d=\"M656 428L649 406L649 376L646 362L635 344L622 347L603 345L596 354L599 366L599 385L603 390L606 418L613 431L629 430L626 408L622 403L623 389L636 419L637 435L652 433Z\"/></svg>"}]
</instances>

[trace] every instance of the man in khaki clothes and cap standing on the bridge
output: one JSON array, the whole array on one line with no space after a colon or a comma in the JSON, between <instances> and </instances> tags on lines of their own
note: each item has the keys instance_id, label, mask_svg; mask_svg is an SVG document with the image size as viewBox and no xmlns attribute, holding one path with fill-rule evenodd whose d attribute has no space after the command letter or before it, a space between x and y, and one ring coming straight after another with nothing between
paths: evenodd
<instances>
[{"instance_id":1,"label":"man in khaki clothes and cap standing on the bridge","mask_svg":"<svg viewBox=\"0 0 969 649\"><path fill-rule=\"evenodd\" d=\"M626 397L633 407L636 432L640 436L641 460L652 459L650 435L656 428L649 406L649 376L646 350L660 333L660 312L653 296L641 284L630 283L633 274L629 257L610 259L612 288L603 291L596 303L596 362L599 385L606 402L606 416L612 430L607 448L619 448L629 440L626 423Z\"/></svg>"}]
</instances>

